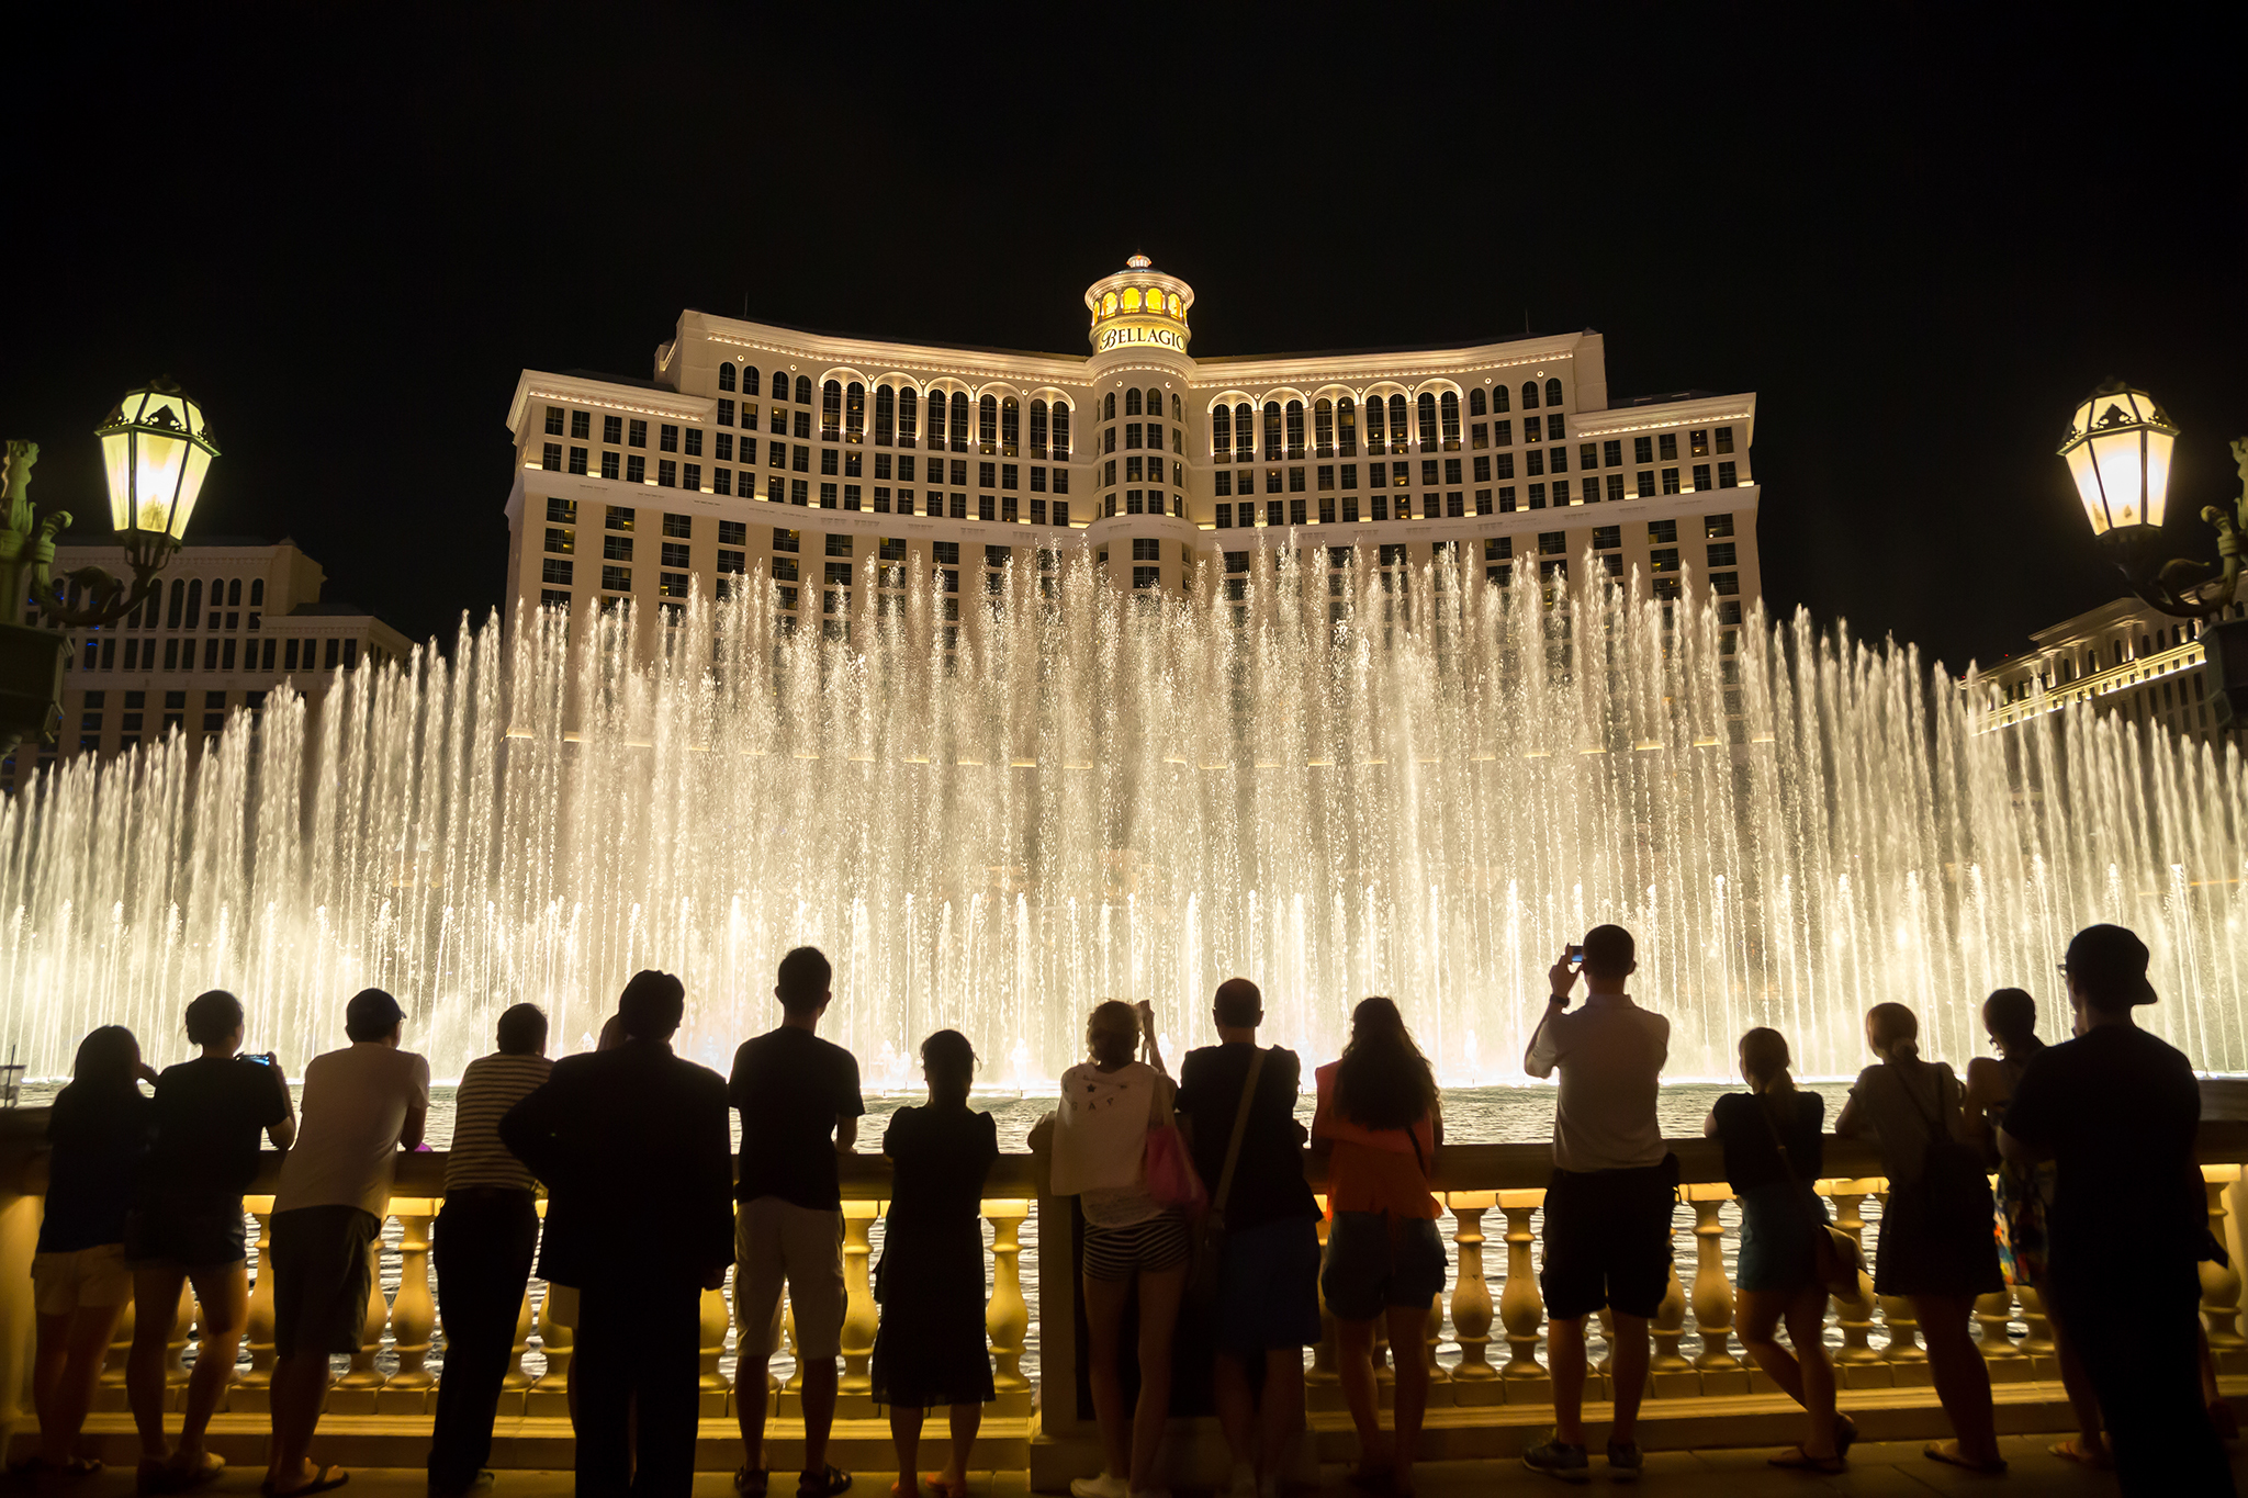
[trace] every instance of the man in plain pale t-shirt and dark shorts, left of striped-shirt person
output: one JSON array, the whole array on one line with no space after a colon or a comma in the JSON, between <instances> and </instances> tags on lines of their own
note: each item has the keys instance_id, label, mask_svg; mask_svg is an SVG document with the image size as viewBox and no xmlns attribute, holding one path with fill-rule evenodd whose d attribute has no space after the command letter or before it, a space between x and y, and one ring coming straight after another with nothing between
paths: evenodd
<instances>
[{"instance_id":1,"label":"man in plain pale t-shirt and dark shorts, left of striped-shirt person","mask_svg":"<svg viewBox=\"0 0 2248 1498\"><path fill-rule=\"evenodd\" d=\"M274 1372L268 1498L324 1494L351 1480L315 1467L312 1435L328 1397L328 1357L355 1354L373 1280L369 1253L382 1233L398 1152L423 1141L429 1062L400 1051L407 1015L380 988L344 1006L342 1051L303 1069L297 1143L274 1188ZM259 1269L265 1273L265 1267Z\"/></svg>"}]
</instances>

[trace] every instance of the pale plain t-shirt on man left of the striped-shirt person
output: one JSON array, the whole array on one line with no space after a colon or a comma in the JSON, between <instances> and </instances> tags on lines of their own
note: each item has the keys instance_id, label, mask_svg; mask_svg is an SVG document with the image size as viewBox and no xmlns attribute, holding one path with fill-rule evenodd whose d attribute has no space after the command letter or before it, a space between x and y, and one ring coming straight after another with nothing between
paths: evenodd
<instances>
[{"instance_id":1,"label":"pale plain t-shirt on man left of the striped-shirt person","mask_svg":"<svg viewBox=\"0 0 2248 1498\"><path fill-rule=\"evenodd\" d=\"M315 1056L303 1069L303 1116L281 1161L274 1211L357 1206L380 1217L398 1170L407 1114L429 1107L429 1062L380 1040Z\"/></svg>"}]
</instances>

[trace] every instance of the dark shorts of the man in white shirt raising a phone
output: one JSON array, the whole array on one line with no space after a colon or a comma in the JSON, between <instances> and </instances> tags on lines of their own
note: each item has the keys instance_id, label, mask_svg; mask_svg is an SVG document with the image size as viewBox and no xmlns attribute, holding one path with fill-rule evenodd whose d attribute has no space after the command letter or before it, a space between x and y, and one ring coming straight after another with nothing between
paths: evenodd
<instances>
[{"instance_id":1,"label":"dark shorts of the man in white shirt raising a phone","mask_svg":"<svg viewBox=\"0 0 2248 1498\"><path fill-rule=\"evenodd\" d=\"M1603 1305L1652 1318L1670 1291L1670 1206L1677 1163L1639 1170L1556 1170L1544 1204L1549 1321L1578 1321Z\"/></svg>"}]
</instances>

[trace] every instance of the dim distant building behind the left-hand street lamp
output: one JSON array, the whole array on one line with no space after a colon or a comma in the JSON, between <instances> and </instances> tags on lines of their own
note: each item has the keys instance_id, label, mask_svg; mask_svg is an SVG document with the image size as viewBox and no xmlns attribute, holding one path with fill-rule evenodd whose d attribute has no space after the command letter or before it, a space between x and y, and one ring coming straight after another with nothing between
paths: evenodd
<instances>
[{"instance_id":1,"label":"dim distant building behind the left-hand street lamp","mask_svg":"<svg viewBox=\"0 0 2248 1498\"><path fill-rule=\"evenodd\" d=\"M115 546L54 550L56 575L81 566L128 575ZM0 791L16 788L25 752L49 768L58 757L115 755L173 730L200 752L229 710L263 710L283 681L319 696L337 669L411 649L366 609L321 600L324 582L294 541L216 537L182 546L139 609L117 624L76 631L61 734L0 759ZM25 624L40 622L25 615Z\"/></svg>"}]
</instances>

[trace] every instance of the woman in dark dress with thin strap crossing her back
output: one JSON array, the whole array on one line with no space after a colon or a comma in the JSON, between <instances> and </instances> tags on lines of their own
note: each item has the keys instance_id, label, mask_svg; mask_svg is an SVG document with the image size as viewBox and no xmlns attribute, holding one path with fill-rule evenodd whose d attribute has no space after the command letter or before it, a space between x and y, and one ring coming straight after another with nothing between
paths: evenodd
<instances>
[{"instance_id":1,"label":"woman in dark dress with thin strap crossing her back","mask_svg":"<svg viewBox=\"0 0 2248 1498\"><path fill-rule=\"evenodd\" d=\"M1992 1235L1989 1179L1967 1127L1967 1091L1945 1062L1920 1060L1920 1017L1904 1004L1866 1011L1879 1060L1857 1074L1834 1121L1839 1139L1873 1134L1888 1177L1873 1294L1913 1303L1936 1397L1956 1440L1929 1442L1931 1462L2001 1473L1989 1368L1969 1332L1976 1296L2005 1289Z\"/></svg>"}]
</instances>

